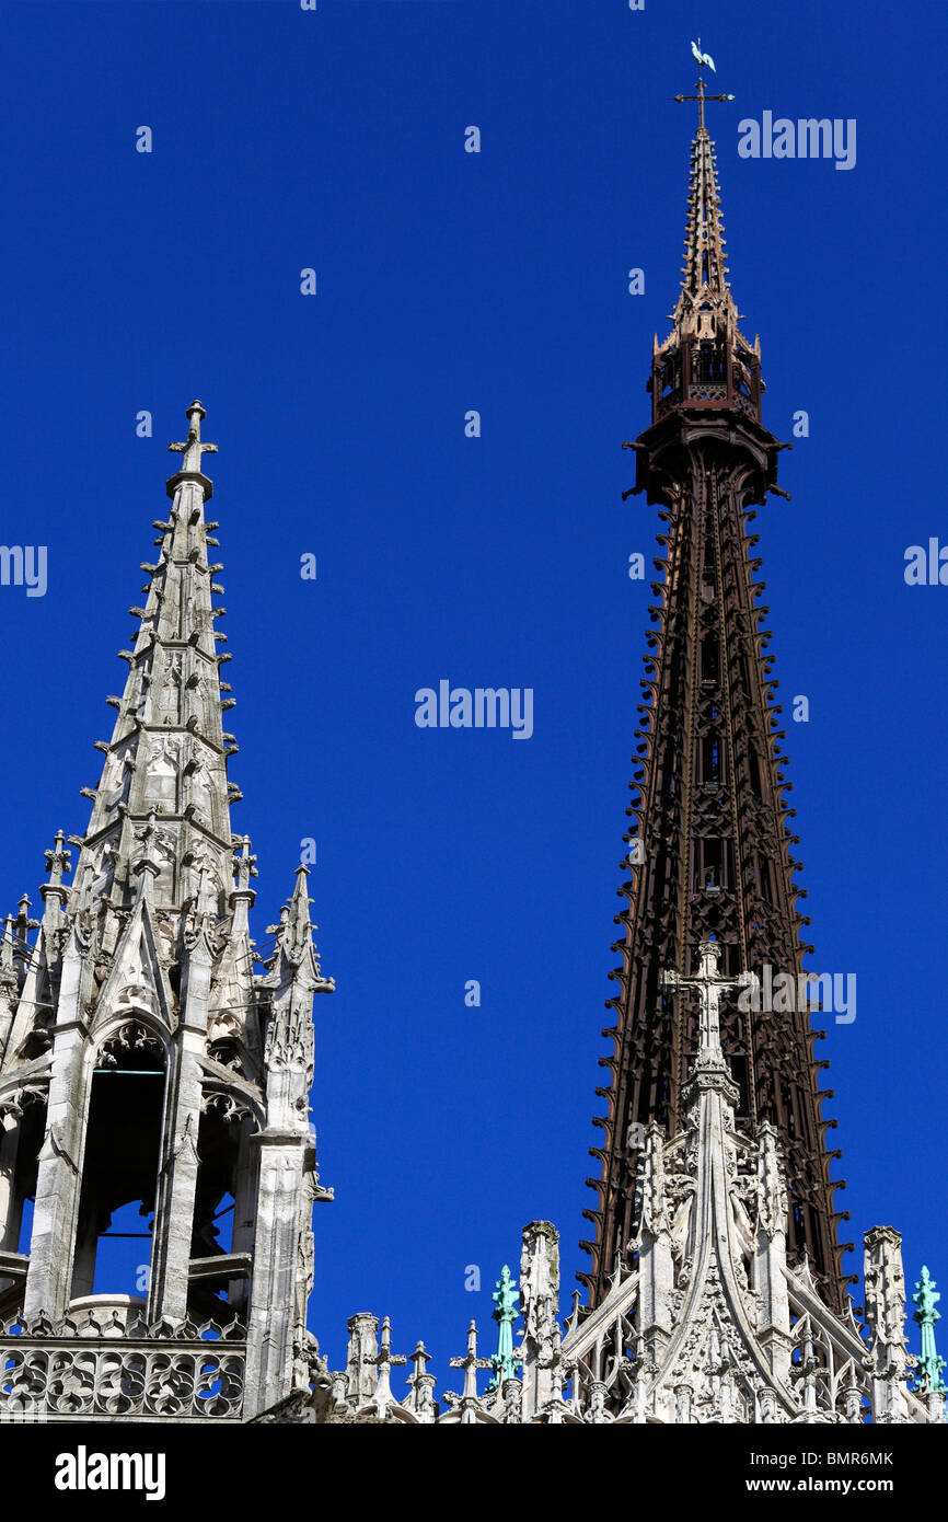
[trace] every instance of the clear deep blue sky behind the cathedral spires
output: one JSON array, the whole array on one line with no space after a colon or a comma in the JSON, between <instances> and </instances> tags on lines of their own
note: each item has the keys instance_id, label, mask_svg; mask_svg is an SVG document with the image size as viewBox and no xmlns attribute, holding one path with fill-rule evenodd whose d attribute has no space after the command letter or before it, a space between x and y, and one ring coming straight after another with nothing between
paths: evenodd
<instances>
[{"instance_id":1,"label":"clear deep blue sky behind the cathedral spires","mask_svg":"<svg viewBox=\"0 0 948 1522\"><path fill-rule=\"evenodd\" d=\"M692 88L701 32L738 97L709 114L764 420L790 438L810 414L781 457L793 501L755 530L779 699L810 697L787 749L811 966L858 979L857 1021L823 1047L845 1239L892 1224L910 1280L922 1262L948 1277L948 587L902 575L908 545L948 542L943 6L0 14L0 539L49 551L46 597L0 587L6 904L23 889L37 904L55 829L85 828L78 790L99 775L166 444L199 396L254 930L313 837L338 983L317 1003L336 1201L317 1212L312 1326L339 1367L347 1317L388 1313L396 1350L423 1336L438 1373L472 1315L493 1347L490 1286L523 1222L557 1222L565 1304L587 1262L650 601L627 562L651 559L659 527L621 501L619 446L648 422L651 335L677 294L694 119L670 97ZM740 158L738 122L765 110L855 119L855 167ZM418 729L415 689L443 677L531 686L530 741Z\"/></svg>"}]
</instances>

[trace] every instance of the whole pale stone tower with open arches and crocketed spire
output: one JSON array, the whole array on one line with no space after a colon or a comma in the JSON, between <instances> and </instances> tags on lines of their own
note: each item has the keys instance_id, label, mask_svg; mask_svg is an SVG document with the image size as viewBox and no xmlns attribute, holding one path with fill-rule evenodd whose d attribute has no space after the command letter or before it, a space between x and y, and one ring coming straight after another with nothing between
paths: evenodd
<instances>
[{"instance_id":1,"label":"whole pale stone tower with open arches and crocketed spire","mask_svg":"<svg viewBox=\"0 0 948 1522\"><path fill-rule=\"evenodd\" d=\"M204 521L213 486L202 463L215 446L201 438L199 402L187 417L187 438L170 444L183 460L167 519L155 522L158 556L142 568L145 606L131 609L125 691L110 699L114 731L96 746L102 776L84 790L90 826L68 840L79 849L73 886L59 831L46 852L43 921L23 898L0 942L0 1113L17 1119L0 1126L0 1341L3 1318L23 1310L59 1327L67 1367L70 1313L114 1292L122 1324L157 1345L173 1329L175 1350L204 1368L204 1344L193 1355L184 1345L210 1318L230 1338L215 1414L250 1417L304 1380L313 1358L312 1205L332 1190L318 1183L309 1122L312 995L332 980L312 944L304 868L268 976L254 974L256 858L230 826L240 794L227 761L237 747L219 679L230 658L216 653L218 525ZM154 1213L148 1300L108 1285L99 1257L113 1213L129 1202ZM225 1245L216 1222L230 1210ZM212 1414L193 1399L175 1412ZM143 1412L143 1387L135 1400Z\"/></svg>"}]
</instances>

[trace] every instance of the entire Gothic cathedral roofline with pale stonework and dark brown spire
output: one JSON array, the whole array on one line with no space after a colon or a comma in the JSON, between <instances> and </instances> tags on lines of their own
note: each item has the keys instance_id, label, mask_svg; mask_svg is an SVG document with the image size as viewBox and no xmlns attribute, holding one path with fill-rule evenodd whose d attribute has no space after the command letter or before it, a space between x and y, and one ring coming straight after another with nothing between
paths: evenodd
<instances>
[{"instance_id":1,"label":"entire Gothic cathedral roofline with pale stonework and dark brown spire","mask_svg":"<svg viewBox=\"0 0 948 1522\"><path fill-rule=\"evenodd\" d=\"M727 280L705 125L727 97L698 73L679 99L698 107L682 289L653 347L651 419L624 446L631 492L657 507L660 578L584 1295L561 1306L558 1233L534 1221L517 1277L498 1282L496 1330L458 1329L453 1391L435 1388L423 1342L394 1350L388 1320L353 1313L338 1370L307 1330L312 1213L332 1198L309 1122L313 1003L333 980L306 866L266 942L250 935L256 858L230 823L207 517L216 446L193 402L88 826L55 836L41 916L24 895L0 942L0 1423L943 1422L937 1291L922 1269L907 1303L899 1234L875 1227L854 1306L825 1032L810 1000L759 997L765 970L808 992L813 951L752 528L785 446ZM154 1215L148 1283L96 1294L129 1202Z\"/></svg>"}]
</instances>

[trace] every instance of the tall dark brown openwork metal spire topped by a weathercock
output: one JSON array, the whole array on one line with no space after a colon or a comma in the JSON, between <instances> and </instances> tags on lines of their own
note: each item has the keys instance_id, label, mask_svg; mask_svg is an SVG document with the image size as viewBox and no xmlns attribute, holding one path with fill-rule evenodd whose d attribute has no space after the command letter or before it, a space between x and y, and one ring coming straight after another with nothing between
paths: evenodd
<instances>
[{"instance_id":1,"label":"tall dark brown openwork metal spire topped by a weathercock","mask_svg":"<svg viewBox=\"0 0 948 1522\"><path fill-rule=\"evenodd\" d=\"M711 61L692 47L701 67ZM609 1294L616 1256L638 1230L642 1201L639 1158L648 1128L682 1131L688 1073L701 1049L720 1038L740 1097L744 1125L776 1128L788 1163L791 1253L806 1251L828 1301L841 1306L843 1277L826 1148L835 1122L822 1116L823 1091L811 1026L813 1005L802 939L808 918L797 912L802 866L791 852L794 810L785 791L787 756L779 741L781 706L768 653L768 609L759 604L762 562L749 533L776 484L784 447L761 422L759 345L738 330L727 282L724 228L701 78L695 96L698 129L691 149L685 279L674 327L653 350L651 425L631 444L636 484L660 504L663 574L651 583L654 603L644 656L642 702L635 732L631 851L613 944L622 965L610 974L619 992L609 1000L615 1023L604 1032L613 1052L601 1059L609 1084L596 1090L609 1111L590 1148L601 1177L589 1180L598 1204L587 1210L595 1240L589 1280L593 1304ZM633 495L633 493L625 493ZM782 493L787 495L787 493ZM705 948L705 950L700 950ZM714 948L714 951L706 950ZM695 951L720 954L721 974L735 979L781 976L793 986L790 1008L761 1000L753 986L721 997L711 1043L695 1018L694 986L685 973ZM663 968L677 970L671 983ZM770 985L767 985L770 986ZM802 997L799 991L803 991ZM819 1001L817 1001L819 1003Z\"/></svg>"}]
</instances>

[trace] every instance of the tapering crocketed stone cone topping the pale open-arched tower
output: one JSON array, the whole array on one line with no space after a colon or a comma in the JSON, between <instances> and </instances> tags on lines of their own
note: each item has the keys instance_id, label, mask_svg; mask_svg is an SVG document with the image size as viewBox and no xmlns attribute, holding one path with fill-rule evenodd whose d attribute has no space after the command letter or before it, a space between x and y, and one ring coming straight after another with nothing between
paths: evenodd
<instances>
[{"instance_id":1,"label":"tapering crocketed stone cone topping the pale open-arched tower","mask_svg":"<svg viewBox=\"0 0 948 1522\"><path fill-rule=\"evenodd\" d=\"M94 883L116 907L135 896L135 864L140 837L149 817L154 828L148 860L154 863L155 898L181 909L195 898L201 875L205 895L219 910L233 875L230 802L237 793L227 781L227 759L236 752L234 737L224 729L224 699L230 686L221 682L218 654L225 635L215 621L225 612L212 603L224 591L215 580L221 563L212 563L218 540L204 521L204 504L213 482L204 475L202 455L216 444L201 438L205 412L199 402L187 408L187 440L169 449L181 454L181 469L170 476L167 519L157 519L155 562L143 562L148 580L143 607L131 607L138 619L132 648L122 650L128 677L122 697L110 697L117 709L103 752L99 785L84 788L93 801L76 883Z\"/></svg>"}]
</instances>

